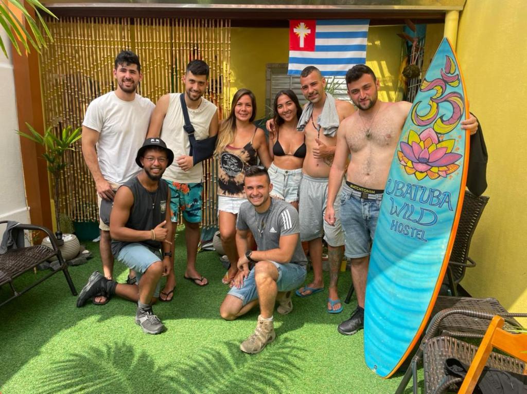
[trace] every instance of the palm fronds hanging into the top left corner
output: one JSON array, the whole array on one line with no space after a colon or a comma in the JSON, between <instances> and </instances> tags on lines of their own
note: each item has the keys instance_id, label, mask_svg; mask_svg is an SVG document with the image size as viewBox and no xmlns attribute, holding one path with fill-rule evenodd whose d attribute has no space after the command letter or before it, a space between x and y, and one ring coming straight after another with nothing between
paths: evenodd
<instances>
[{"instance_id":1,"label":"palm fronds hanging into the top left corner","mask_svg":"<svg viewBox=\"0 0 527 394\"><path fill-rule=\"evenodd\" d=\"M18 19L18 16L9 7L12 5L18 11L22 13L22 21ZM26 7L30 8L35 12L35 17L27 11ZM2 26L9 37L9 41L13 44L18 55L21 55L21 48L18 43L21 43L26 50L30 52L30 45L40 53L42 47L46 47L45 36L53 41L50 30L44 21L42 15L51 15L57 18L53 13L44 7L38 0L24 0L23 3L18 0L0 0L0 26ZM25 22L25 23L24 23ZM28 28L26 28L26 26ZM41 28L44 34L41 32ZM0 38L0 48L7 57L7 50L5 44Z\"/></svg>"}]
</instances>

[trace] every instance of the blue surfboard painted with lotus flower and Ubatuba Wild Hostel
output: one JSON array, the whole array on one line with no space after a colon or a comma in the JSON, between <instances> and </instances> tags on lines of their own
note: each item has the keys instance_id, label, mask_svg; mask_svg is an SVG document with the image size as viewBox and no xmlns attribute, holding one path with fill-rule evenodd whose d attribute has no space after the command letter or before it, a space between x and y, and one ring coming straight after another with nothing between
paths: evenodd
<instances>
[{"instance_id":1,"label":"blue surfboard painted with lotus flower and Ubatuba Wild Hostel","mask_svg":"<svg viewBox=\"0 0 527 394\"><path fill-rule=\"evenodd\" d=\"M366 365L391 376L430 317L463 205L469 136L461 70L444 38L395 150L370 255Z\"/></svg>"}]
</instances>

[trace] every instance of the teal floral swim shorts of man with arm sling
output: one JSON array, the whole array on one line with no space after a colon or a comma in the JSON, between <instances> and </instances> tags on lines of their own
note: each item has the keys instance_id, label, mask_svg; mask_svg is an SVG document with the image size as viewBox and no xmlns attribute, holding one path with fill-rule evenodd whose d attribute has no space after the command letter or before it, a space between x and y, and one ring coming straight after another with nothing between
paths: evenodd
<instances>
[{"instance_id":1,"label":"teal floral swim shorts of man with arm sling","mask_svg":"<svg viewBox=\"0 0 527 394\"><path fill-rule=\"evenodd\" d=\"M170 189L170 210L172 211L170 220L173 223L178 221L179 210L183 219L189 223L200 223L201 206L203 205L203 184L199 183L178 183L163 179Z\"/></svg>"}]
</instances>

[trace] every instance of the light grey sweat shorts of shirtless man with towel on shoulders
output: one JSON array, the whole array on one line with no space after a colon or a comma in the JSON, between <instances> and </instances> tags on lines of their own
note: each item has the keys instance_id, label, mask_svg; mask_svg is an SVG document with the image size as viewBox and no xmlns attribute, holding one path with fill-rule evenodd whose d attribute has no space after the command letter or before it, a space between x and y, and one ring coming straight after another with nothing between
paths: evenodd
<instances>
[{"instance_id":1,"label":"light grey sweat shorts of shirtless man with towel on shoulders","mask_svg":"<svg viewBox=\"0 0 527 394\"><path fill-rule=\"evenodd\" d=\"M313 178L303 174L298 188L298 216L300 239L310 241L324 236L329 246L344 245L344 231L340 225L340 189L334 204L335 225L324 220L328 200L328 178Z\"/></svg>"}]
</instances>

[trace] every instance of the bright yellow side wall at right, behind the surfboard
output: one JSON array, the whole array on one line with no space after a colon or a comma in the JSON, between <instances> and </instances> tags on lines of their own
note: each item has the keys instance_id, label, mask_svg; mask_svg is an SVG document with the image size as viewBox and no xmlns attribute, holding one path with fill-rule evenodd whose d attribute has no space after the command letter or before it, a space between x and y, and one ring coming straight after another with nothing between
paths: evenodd
<instances>
[{"instance_id":1,"label":"bright yellow side wall at right, behind the surfboard","mask_svg":"<svg viewBox=\"0 0 527 394\"><path fill-rule=\"evenodd\" d=\"M471 111L480 119L489 164L490 196L470 255L477 267L462 281L471 295L492 296L511 311L527 311L527 4L467 0L457 55Z\"/></svg>"}]
</instances>

